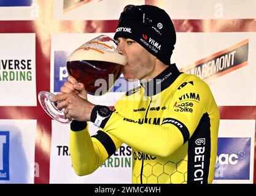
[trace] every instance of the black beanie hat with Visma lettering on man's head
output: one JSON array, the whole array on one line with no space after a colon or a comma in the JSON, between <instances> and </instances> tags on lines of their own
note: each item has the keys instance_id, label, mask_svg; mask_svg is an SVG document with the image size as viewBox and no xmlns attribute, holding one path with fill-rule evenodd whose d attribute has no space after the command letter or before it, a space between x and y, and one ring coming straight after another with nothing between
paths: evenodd
<instances>
[{"instance_id":1,"label":"black beanie hat with Visma lettering on man's head","mask_svg":"<svg viewBox=\"0 0 256 196\"><path fill-rule=\"evenodd\" d=\"M169 65L176 43L173 22L165 10L156 6L126 6L118 21L114 39L130 38L161 62Z\"/></svg>"}]
</instances>

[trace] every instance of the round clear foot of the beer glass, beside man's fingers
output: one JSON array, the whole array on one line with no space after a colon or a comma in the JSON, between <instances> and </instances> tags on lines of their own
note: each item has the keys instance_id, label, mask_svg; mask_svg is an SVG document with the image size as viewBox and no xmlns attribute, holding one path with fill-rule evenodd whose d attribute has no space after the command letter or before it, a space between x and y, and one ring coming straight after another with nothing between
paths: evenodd
<instances>
[{"instance_id":1,"label":"round clear foot of the beer glass, beside man's fingers","mask_svg":"<svg viewBox=\"0 0 256 196\"><path fill-rule=\"evenodd\" d=\"M64 115L64 109L58 110L57 104L52 102L55 95L48 91L41 91L38 94L38 100L44 111L56 121L60 123L71 123L71 121Z\"/></svg>"}]
</instances>

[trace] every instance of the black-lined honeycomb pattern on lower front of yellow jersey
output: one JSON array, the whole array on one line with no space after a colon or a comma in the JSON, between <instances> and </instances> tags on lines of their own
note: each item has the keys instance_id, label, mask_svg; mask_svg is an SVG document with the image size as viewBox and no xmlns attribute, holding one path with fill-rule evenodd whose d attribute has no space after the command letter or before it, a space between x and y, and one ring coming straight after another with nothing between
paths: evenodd
<instances>
[{"instance_id":1,"label":"black-lined honeycomb pattern on lower front of yellow jersey","mask_svg":"<svg viewBox=\"0 0 256 196\"><path fill-rule=\"evenodd\" d=\"M133 174L133 181L140 184L141 175ZM166 164L145 164L142 183L147 184L187 184L187 160L168 161Z\"/></svg>"}]
</instances>

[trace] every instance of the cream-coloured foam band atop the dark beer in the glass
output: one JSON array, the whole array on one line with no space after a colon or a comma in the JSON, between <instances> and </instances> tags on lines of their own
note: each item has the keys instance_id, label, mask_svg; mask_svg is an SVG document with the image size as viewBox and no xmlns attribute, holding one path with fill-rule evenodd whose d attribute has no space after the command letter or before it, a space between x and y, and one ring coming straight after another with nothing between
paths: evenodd
<instances>
[{"instance_id":1,"label":"cream-coloured foam band atop the dark beer in the glass","mask_svg":"<svg viewBox=\"0 0 256 196\"><path fill-rule=\"evenodd\" d=\"M120 55L117 52L111 51L96 51L96 50L75 50L71 55L69 55L67 61L107 61L114 62L125 66L127 64L127 59L125 56Z\"/></svg>"}]
</instances>

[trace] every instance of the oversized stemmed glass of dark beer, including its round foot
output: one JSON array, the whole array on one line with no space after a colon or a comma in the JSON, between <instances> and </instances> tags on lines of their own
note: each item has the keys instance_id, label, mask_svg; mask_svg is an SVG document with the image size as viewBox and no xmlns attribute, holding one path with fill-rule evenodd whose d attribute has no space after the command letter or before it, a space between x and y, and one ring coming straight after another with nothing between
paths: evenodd
<instances>
[{"instance_id":1,"label":"oversized stemmed glass of dark beer, including its round foot","mask_svg":"<svg viewBox=\"0 0 256 196\"><path fill-rule=\"evenodd\" d=\"M83 83L88 94L101 96L114 86L127 63L125 56L117 51L117 44L109 36L101 35L74 50L67 59L68 74ZM61 123L70 123L64 109L58 110L52 102L55 95L48 91L38 94L39 103L45 112Z\"/></svg>"}]
</instances>

